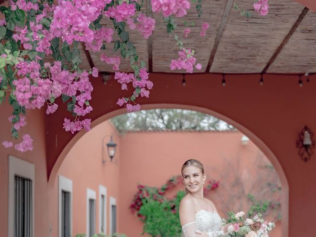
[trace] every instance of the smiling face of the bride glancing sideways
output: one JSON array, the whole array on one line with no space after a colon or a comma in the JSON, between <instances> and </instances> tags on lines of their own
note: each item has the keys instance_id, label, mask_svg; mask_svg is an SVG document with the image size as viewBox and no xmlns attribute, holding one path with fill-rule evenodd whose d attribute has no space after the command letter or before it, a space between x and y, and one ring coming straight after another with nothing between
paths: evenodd
<instances>
[{"instance_id":1,"label":"smiling face of the bride glancing sideways","mask_svg":"<svg viewBox=\"0 0 316 237\"><path fill-rule=\"evenodd\" d=\"M187 166L182 171L183 183L190 193L196 193L203 188L206 174L202 174L201 169L196 166Z\"/></svg>"}]
</instances>

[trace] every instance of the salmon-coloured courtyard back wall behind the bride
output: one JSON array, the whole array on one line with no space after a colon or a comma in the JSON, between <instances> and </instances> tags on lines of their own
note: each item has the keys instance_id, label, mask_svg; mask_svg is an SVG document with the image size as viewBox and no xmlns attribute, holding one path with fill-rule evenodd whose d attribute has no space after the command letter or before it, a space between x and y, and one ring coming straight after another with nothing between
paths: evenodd
<instances>
[{"instance_id":1,"label":"salmon-coloured courtyard back wall behind the bride","mask_svg":"<svg viewBox=\"0 0 316 237\"><path fill-rule=\"evenodd\" d=\"M227 163L235 165L239 160L243 180L251 183L256 174L251 174L247 166L262 153L251 141L243 146L241 136L239 132L144 132L123 135L120 142L121 231L128 237L137 237L142 233L142 223L127 211L137 191L137 184L161 187L173 175L181 174L181 166L187 159L200 160L208 177L220 182L223 181L222 172ZM269 162L265 157L262 159ZM220 208L220 198L225 195L222 187L223 183L220 183L219 188L211 191L208 197L213 200L221 216L225 217L228 210ZM182 185L176 191L179 189L182 189ZM281 236L280 224L277 223L272 237Z\"/></svg>"}]
</instances>

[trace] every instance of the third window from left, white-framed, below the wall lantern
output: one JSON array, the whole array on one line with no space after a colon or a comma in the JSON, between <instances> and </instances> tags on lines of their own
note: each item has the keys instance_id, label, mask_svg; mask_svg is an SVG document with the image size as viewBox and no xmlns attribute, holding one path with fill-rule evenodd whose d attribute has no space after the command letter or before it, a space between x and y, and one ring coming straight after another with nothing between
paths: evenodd
<instances>
[{"instance_id":1,"label":"third window from left, white-framed, below the wall lantern","mask_svg":"<svg viewBox=\"0 0 316 237\"><path fill-rule=\"evenodd\" d=\"M93 237L95 234L95 199L95 191L87 189L87 237Z\"/></svg>"}]
</instances>

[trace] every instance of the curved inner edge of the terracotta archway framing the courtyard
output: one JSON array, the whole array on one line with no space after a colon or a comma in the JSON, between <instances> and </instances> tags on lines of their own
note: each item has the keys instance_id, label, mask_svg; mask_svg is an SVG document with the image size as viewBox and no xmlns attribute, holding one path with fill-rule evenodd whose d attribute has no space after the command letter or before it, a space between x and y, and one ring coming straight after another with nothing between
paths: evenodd
<instances>
[{"instance_id":1,"label":"curved inner edge of the terracotta archway framing the courtyard","mask_svg":"<svg viewBox=\"0 0 316 237\"><path fill-rule=\"evenodd\" d=\"M217 118L220 118L230 124L232 124L234 127L236 127L240 132L245 134L247 137L250 138L250 140L253 141L253 143L265 154L265 156L271 161L271 163L274 165L277 175L281 181L282 186L282 237L288 236L288 200L289 200L289 186L288 182L285 176L285 173L272 152L272 150L252 131L247 129L245 126L239 124L238 122L232 120L231 118L228 118L226 116L223 116L217 112L211 111L206 108L196 107L196 106L187 106L187 105L178 105L178 104L151 104L151 105L143 105L143 109L157 109L157 108L164 108L164 109L171 109L171 108L177 108L177 109L187 109L187 110L194 110L197 112L209 114L212 116L215 116ZM97 119L95 119L91 123L91 127L94 127L103 121L106 121L112 117L118 116L120 114L126 113L125 109L119 109L116 111L113 111L111 113L105 114ZM67 144L67 146L63 149L62 153L58 157L55 165L53 166L53 169L51 171L49 180L48 180L48 187L51 188L54 185L54 181L56 180L56 176L59 170L59 167L61 166L63 160L66 158L67 154L71 150L71 148L76 144L76 142L84 135L84 132L81 131L78 134L76 134L73 139Z\"/></svg>"}]
</instances>

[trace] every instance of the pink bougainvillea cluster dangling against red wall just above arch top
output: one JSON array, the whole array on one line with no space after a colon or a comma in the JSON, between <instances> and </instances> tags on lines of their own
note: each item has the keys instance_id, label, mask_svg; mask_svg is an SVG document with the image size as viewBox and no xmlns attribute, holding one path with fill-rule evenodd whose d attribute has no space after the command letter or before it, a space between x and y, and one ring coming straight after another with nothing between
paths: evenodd
<instances>
[{"instance_id":1,"label":"pink bougainvillea cluster dangling against red wall just above arch top","mask_svg":"<svg viewBox=\"0 0 316 237\"><path fill-rule=\"evenodd\" d=\"M149 73L147 73L146 68L141 68L138 71L138 74L134 73L115 73L114 79L118 80L121 84L122 90L127 90L127 84L132 82L133 87L135 88L133 95L130 98L120 98L118 99L117 104L123 106L126 104L127 112L134 112L140 110L140 105L132 105L128 102L133 101L140 95L141 97L149 97L149 90L153 88L154 83L148 79Z\"/></svg>"}]
</instances>

